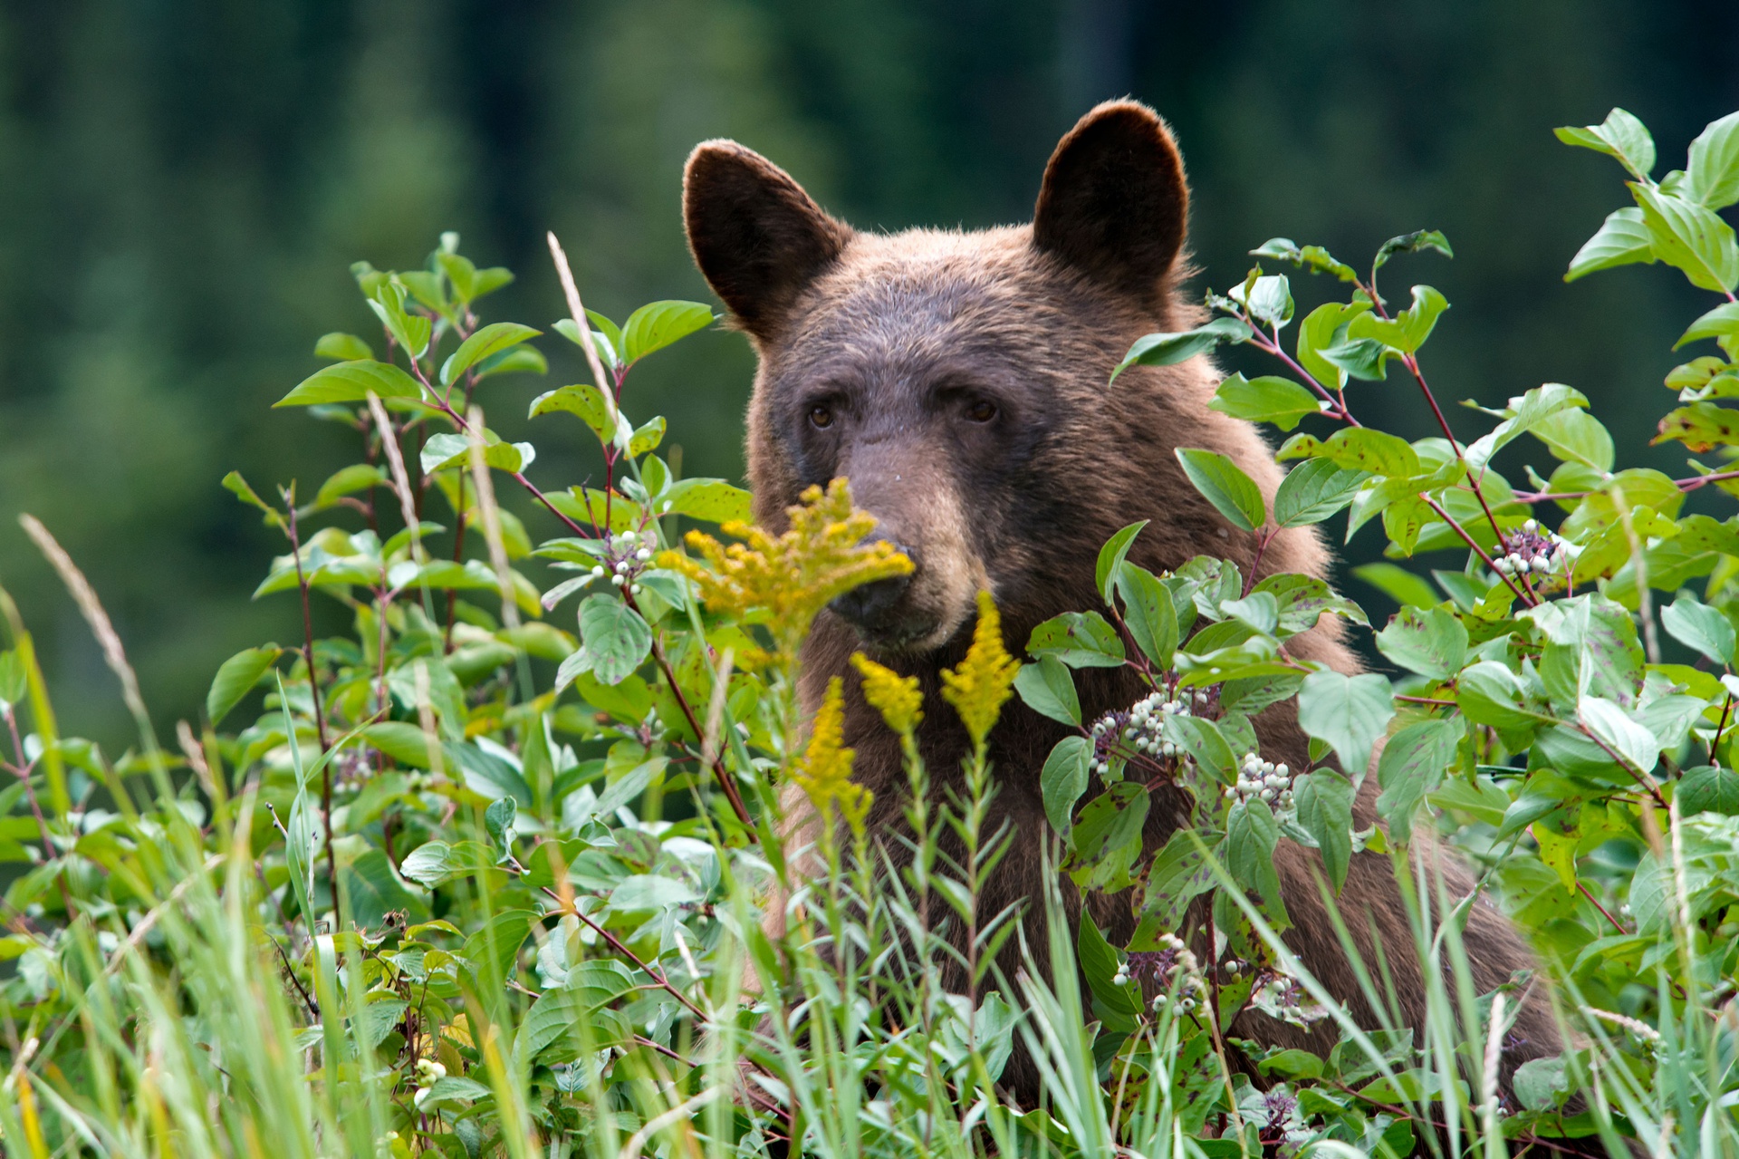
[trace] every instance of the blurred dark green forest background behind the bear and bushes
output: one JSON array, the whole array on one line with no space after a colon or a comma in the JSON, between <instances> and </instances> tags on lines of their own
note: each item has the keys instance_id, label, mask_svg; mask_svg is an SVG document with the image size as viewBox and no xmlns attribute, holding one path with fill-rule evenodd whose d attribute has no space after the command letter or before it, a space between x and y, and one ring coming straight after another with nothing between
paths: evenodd
<instances>
[{"instance_id":1,"label":"blurred dark green forest background behind the bear and bushes","mask_svg":"<svg viewBox=\"0 0 1739 1159\"><path fill-rule=\"evenodd\" d=\"M1363 263L1442 228L1456 259L1388 282L1454 303L1428 352L1440 393L1570 383L1635 459L1669 402L1668 346L1706 303L1662 268L1560 282L1626 202L1617 167L1551 127L1622 104L1661 171L1682 165L1739 108L1736 44L1732 0L7 3L0 585L70 731L123 736L115 682L17 512L89 571L158 713L193 717L224 656L299 635L294 597L249 600L280 543L217 480L306 489L350 461L348 432L268 405L318 365L318 334L372 332L353 259L416 266L459 230L520 273L485 313L546 325L555 228L588 305L621 318L706 298L678 214L703 137L762 150L859 226L970 228L1028 219L1057 136L1122 94L1179 132L1202 282L1236 282L1273 235ZM579 374L539 345L551 379L482 393L503 433ZM703 334L636 371L630 411L670 416L687 473L736 479L750 372L741 338ZM1400 383L1360 393L1428 433ZM544 486L588 470L570 433L537 435ZM1363 536L1355 559L1377 546Z\"/></svg>"}]
</instances>

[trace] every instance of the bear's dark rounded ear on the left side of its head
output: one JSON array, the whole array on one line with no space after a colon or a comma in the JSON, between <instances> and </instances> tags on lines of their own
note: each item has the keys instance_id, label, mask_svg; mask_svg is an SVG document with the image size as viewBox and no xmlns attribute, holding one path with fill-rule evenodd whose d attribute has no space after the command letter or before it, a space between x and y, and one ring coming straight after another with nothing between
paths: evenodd
<instances>
[{"instance_id":1,"label":"bear's dark rounded ear on the left side of its head","mask_svg":"<svg viewBox=\"0 0 1739 1159\"><path fill-rule=\"evenodd\" d=\"M852 237L786 171L736 141L696 146L682 176L682 216L694 265L762 341Z\"/></svg>"}]
</instances>

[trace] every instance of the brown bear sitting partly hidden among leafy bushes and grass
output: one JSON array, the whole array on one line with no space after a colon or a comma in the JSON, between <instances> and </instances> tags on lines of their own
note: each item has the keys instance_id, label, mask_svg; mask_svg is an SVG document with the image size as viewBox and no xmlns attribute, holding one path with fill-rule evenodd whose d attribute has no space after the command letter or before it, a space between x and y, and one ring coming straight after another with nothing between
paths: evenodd
<instances>
[{"instance_id":1,"label":"brown bear sitting partly hidden among leafy bushes and grass","mask_svg":"<svg viewBox=\"0 0 1739 1159\"><path fill-rule=\"evenodd\" d=\"M932 705L920 747L937 792L967 752L958 719L939 708L939 672L965 653L981 588L995 595L1005 635L1019 646L1040 621L1097 604L1099 545L1137 519L1151 520L1130 552L1144 567L1172 569L1203 553L1250 567L1254 536L1231 527L1172 454L1176 447L1228 454L1273 501L1282 470L1269 446L1250 423L1207 407L1221 379L1214 364L1196 357L1134 369L1108 385L1136 338L1184 331L1202 318L1179 296L1188 271L1183 160L1146 106L1101 104L1063 137L1031 224L859 233L734 141L694 150L683 212L696 263L760 357L748 416L758 519L783 529L798 492L843 475L880 520L876 534L916 564L909 576L859 588L821 616L803 653L803 694L812 708L830 677L856 687L849 656L859 647L916 673ZM1269 545L1261 569L1327 576L1329 562L1315 527L1294 529ZM1360 670L1337 623L1325 621L1296 644L1299 654L1341 672ZM1127 670L1083 677L1089 719L1146 693ZM1308 764L1290 705L1264 712L1257 733L1268 759ZM1049 828L1038 781L1064 734L1064 726L1019 701L991 733L998 783L991 825L1007 820L1017 837L984 912L1029 901L1026 940L1040 955L1047 945L1040 851ZM857 778L875 792L871 828L897 827L899 745L857 696L849 696L845 741L857 750ZM1177 792L1156 797L1149 847L1163 844L1184 814ZM1376 778L1367 778L1355 811L1360 827L1372 823L1374 797ZM1471 877L1450 858L1442 861L1450 894L1466 896ZM1282 842L1276 867L1294 919L1287 943L1362 1025L1376 1025L1323 912L1316 854ZM1092 908L1108 936L1127 943L1130 907ZM1339 908L1372 975L1369 929L1381 931L1402 1016L1417 1022L1423 983L1389 860L1356 854ZM1487 901L1473 907L1466 948L1482 988L1534 966ZM1332 1028L1306 1034L1254 1011L1235 1034L1316 1051L1334 1039ZM1509 1044L1506 1084L1522 1062L1560 1049L1537 988ZM1005 1081L1029 1095L1031 1063L1016 1058Z\"/></svg>"}]
</instances>

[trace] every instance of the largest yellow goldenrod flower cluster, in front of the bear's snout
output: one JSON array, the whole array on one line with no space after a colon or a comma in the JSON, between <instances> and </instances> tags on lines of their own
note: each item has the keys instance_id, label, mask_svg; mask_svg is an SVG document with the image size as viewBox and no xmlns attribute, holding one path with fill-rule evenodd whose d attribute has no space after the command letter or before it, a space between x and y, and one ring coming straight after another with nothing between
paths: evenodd
<instances>
[{"instance_id":1,"label":"largest yellow goldenrod flower cluster, in front of the bear's snout","mask_svg":"<svg viewBox=\"0 0 1739 1159\"><path fill-rule=\"evenodd\" d=\"M675 552L657 560L659 567L694 580L701 602L716 613L744 616L763 609L774 644L786 660L796 654L809 625L831 600L863 583L911 573L911 560L894 545L864 543L875 517L852 508L843 479L835 479L826 491L810 487L800 498L800 505L788 508L791 529L779 538L732 520L723 526L725 534L744 543L727 546L690 531L687 541L699 560Z\"/></svg>"}]
</instances>

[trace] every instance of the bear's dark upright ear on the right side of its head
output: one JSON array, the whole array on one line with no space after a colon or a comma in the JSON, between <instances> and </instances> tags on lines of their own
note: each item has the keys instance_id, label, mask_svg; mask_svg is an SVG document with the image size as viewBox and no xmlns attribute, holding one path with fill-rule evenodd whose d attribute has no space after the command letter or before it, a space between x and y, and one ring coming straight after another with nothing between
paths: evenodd
<instances>
[{"instance_id":1,"label":"bear's dark upright ear on the right side of its head","mask_svg":"<svg viewBox=\"0 0 1739 1159\"><path fill-rule=\"evenodd\" d=\"M1165 122L1106 101L1069 129L1045 165L1033 244L1141 296L1156 292L1184 244L1189 190Z\"/></svg>"}]
</instances>

